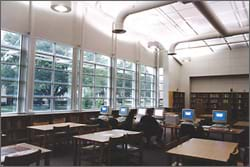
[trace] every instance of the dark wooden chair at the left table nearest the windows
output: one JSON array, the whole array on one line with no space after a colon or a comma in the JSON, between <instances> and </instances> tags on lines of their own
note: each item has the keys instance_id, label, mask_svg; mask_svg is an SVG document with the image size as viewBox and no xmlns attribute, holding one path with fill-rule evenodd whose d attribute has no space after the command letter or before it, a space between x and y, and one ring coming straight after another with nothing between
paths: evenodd
<instances>
[{"instance_id":1,"label":"dark wooden chair at the left table nearest the windows","mask_svg":"<svg viewBox=\"0 0 250 167\"><path fill-rule=\"evenodd\" d=\"M69 125L58 127L54 126L52 136L54 149L56 148L57 144L63 144L64 142L68 144L72 137Z\"/></svg>"}]
</instances>

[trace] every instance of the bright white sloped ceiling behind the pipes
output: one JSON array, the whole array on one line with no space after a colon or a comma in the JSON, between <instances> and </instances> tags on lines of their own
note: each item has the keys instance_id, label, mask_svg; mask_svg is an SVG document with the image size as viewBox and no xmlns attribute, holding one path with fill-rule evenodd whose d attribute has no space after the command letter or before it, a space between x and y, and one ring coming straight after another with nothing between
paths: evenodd
<instances>
[{"instance_id":1,"label":"bright white sloped ceiling behind the pipes","mask_svg":"<svg viewBox=\"0 0 250 167\"><path fill-rule=\"evenodd\" d=\"M150 2L92 1L87 3L114 20L119 11L126 7ZM206 3L228 30L249 26L249 1L207 1ZM181 2L130 15L125 20L124 27L127 33L118 35L120 38L125 38L125 36L135 38L135 34L140 34L136 36L138 40L157 40L166 48L172 42L186 37L216 32L192 3L183 4ZM248 41L246 40L249 40L249 34L184 43L178 45L177 53L178 49L184 50L193 47L202 47L210 52L247 47Z\"/></svg>"}]
</instances>

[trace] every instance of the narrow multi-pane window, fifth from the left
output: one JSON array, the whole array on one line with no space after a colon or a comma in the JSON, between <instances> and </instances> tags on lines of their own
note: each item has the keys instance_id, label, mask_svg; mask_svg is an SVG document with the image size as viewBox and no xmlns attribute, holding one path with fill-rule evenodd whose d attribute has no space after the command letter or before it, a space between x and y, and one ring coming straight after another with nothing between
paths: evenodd
<instances>
[{"instance_id":1,"label":"narrow multi-pane window, fifth from the left","mask_svg":"<svg viewBox=\"0 0 250 167\"><path fill-rule=\"evenodd\" d=\"M155 106L155 69L141 65L140 74L140 106Z\"/></svg>"}]
</instances>

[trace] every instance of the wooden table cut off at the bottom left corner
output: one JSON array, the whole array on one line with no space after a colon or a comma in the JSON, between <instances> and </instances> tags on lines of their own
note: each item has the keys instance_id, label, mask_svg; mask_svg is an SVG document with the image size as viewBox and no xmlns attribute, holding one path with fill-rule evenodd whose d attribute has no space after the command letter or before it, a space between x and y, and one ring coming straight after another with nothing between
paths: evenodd
<instances>
[{"instance_id":1,"label":"wooden table cut off at the bottom left corner","mask_svg":"<svg viewBox=\"0 0 250 167\"><path fill-rule=\"evenodd\" d=\"M51 150L34 146L28 143L19 143L9 146L4 146L1 148L1 163L4 162L6 156L14 156L14 155L23 155L27 154L30 151L38 150L42 151L42 157L44 158L44 165L50 164L50 152Z\"/></svg>"}]
</instances>

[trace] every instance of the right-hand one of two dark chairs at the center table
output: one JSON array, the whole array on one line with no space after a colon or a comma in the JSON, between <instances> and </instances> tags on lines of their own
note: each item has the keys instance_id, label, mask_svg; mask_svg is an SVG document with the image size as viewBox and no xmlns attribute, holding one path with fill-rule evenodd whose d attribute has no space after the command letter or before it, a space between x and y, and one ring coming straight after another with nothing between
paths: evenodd
<instances>
[{"instance_id":1,"label":"right-hand one of two dark chairs at the center table","mask_svg":"<svg viewBox=\"0 0 250 167\"><path fill-rule=\"evenodd\" d=\"M127 158L136 157L141 164L143 161L142 138L143 134L127 134Z\"/></svg>"}]
</instances>

